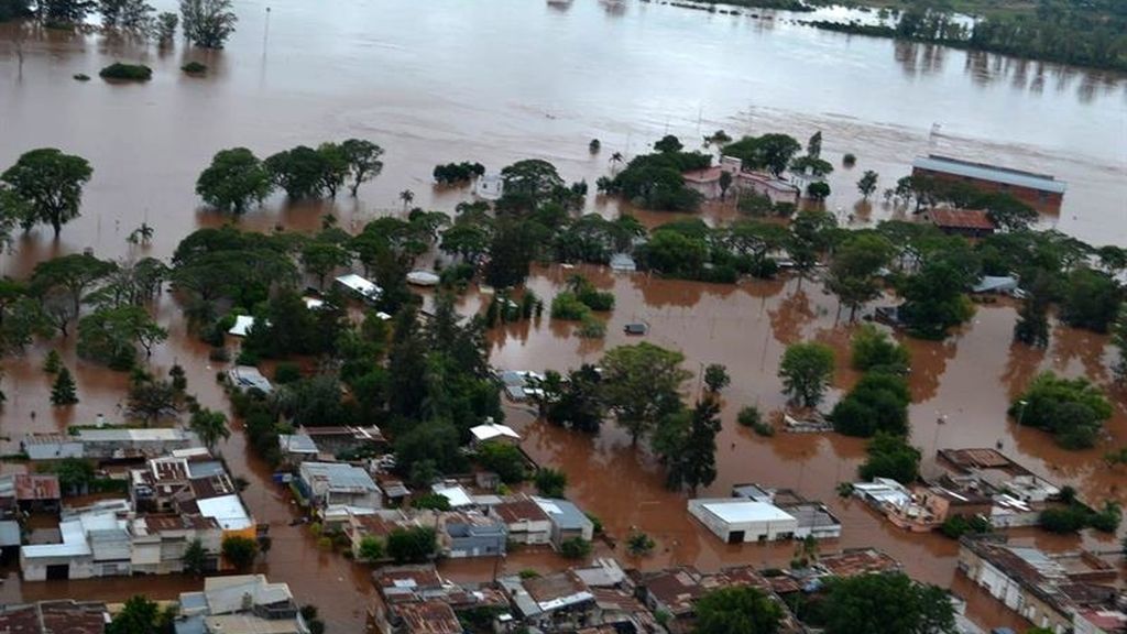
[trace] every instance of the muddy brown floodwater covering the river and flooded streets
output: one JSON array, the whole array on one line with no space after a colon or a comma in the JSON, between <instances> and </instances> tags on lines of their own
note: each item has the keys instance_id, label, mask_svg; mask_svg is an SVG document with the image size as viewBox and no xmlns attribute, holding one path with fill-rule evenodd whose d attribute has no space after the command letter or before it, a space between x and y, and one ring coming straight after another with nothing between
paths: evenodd
<instances>
[{"instance_id":1,"label":"muddy brown floodwater covering the river and flooded streets","mask_svg":"<svg viewBox=\"0 0 1127 634\"><path fill-rule=\"evenodd\" d=\"M168 0L154 3L174 9ZM62 239L55 243L37 229L15 240L0 258L0 273L23 276L37 262L85 248L100 257L167 258L189 231L224 221L199 210L193 194L196 175L216 150L246 146L266 156L346 137L370 138L388 150L383 175L362 187L360 199L289 205L275 197L239 222L254 230L305 231L320 226L322 213L334 213L343 227L358 229L376 215L399 212L397 195L405 188L415 192L417 204L450 211L468 192L435 188L429 175L435 164L452 160L477 160L496 170L539 157L569 180L594 183L607 171L611 153L629 158L665 133L693 144L717 129L734 135L784 131L801 139L822 130L825 156L835 162L843 152L859 156L854 169L838 168L831 177L828 206L842 219L854 213L854 222L863 223L895 213L879 202L859 204L853 183L860 171L879 171L884 187L907 174L914 156L941 151L1055 174L1070 190L1061 214L1044 219L1045 226L1093 244L1127 244L1122 76L850 37L797 26L784 12L760 14L772 19L640 2L609 10L595 0L576 0L565 10L539 0L487 6L371 0L335 3L331 11L300 0L247 0L239 3L239 29L228 49L210 53L180 43L158 52L100 35L0 25L0 167L28 149L54 146L87 157L95 168L82 217L64 228ZM71 79L79 72L96 77L115 60L147 63L154 78L136 86ZM208 74L180 73L188 60L205 62ZM587 150L592 138L602 140L597 156ZM613 215L619 205L591 196L588 211ZM709 214L730 218L733 212ZM647 223L671 218L641 215ZM156 227L151 247L125 243L141 222ZM575 338L573 326L548 319L512 325L490 340L497 367L567 370L628 343L622 325L646 320L648 341L684 351L689 369L725 363L733 375L718 440L719 477L704 493L722 495L734 483L760 482L820 499L845 522L840 543L825 549L878 546L912 574L966 596L983 625L1018 625L955 575L952 541L899 532L855 501L836 496L836 483L851 479L862 459L861 441L833 434L763 439L735 424L743 405L782 405L775 371L789 343L827 342L842 353L836 388L857 379L843 354L850 328L835 323L836 303L819 284L722 287L593 267L583 272L616 296L606 340ZM540 268L530 285L550 298L569 273ZM471 292L463 305L476 310L480 298ZM183 364L201 402L225 408L214 380L222 368L210 363L206 347L187 334L179 307L163 296L154 310L171 334L151 359L154 369ZM1113 394L1110 440L1091 451L1059 450L1045 434L1017 430L1004 415L1008 400L1042 369L1107 384L1111 353L1106 337L1058 327L1050 347L1038 353L1010 345L1013 320L1011 306L980 307L948 342L908 342L913 441L929 458L937 448L1001 441L1008 454L1076 486L1085 497L1124 501L1127 472L1107 469L1100 460L1106 448L1127 443L1122 393ZM76 371L77 406L47 405L50 382L39 367L52 345ZM6 359L3 370L8 402L0 412L0 452L27 432L63 430L99 413L110 421L121 415L126 377L77 359L73 338ZM691 384L689 391L695 379ZM937 425L940 416L948 424ZM612 535L638 526L657 539L654 556L631 564L779 565L792 554L788 545L718 543L690 521L684 495L665 491L654 460L631 449L613 425L587 438L536 422L520 407L509 410L509 419L523 430L527 451L565 469L569 495L598 514ZM246 492L250 510L270 526L273 548L259 570L289 582L301 601L318 605L330 631L361 631L371 592L366 571L318 551L308 531L289 526L294 509L270 483L266 466L248 452L242 434L233 434L221 450L234 475L251 483ZM1024 532L1019 538L1047 548L1115 547L1112 538L1093 535L1081 540ZM550 554L530 552L508 557L503 570L564 565ZM458 580L495 572L494 562L453 562L444 569ZM11 566L3 573L0 602L119 600L135 592L168 599L201 585L180 576L23 583Z\"/></svg>"}]
</instances>

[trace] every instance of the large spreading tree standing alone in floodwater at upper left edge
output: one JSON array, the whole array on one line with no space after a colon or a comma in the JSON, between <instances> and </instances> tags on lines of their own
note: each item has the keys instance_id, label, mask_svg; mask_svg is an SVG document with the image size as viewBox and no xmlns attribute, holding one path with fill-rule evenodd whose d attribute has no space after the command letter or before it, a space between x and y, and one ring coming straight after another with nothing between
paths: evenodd
<instances>
[{"instance_id":1,"label":"large spreading tree standing alone in floodwater at upper left edge","mask_svg":"<svg viewBox=\"0 0 1127 634\"><path fill-rule=\"evenodd\" d=\"M16 165L0 174L0 182L29 205L25 229L47 222L57 238L63 224L78 218L82 186L92 175L85 158L64 155L54 148L39 148L20 156Z\"/></svg>"}]
</instances>

